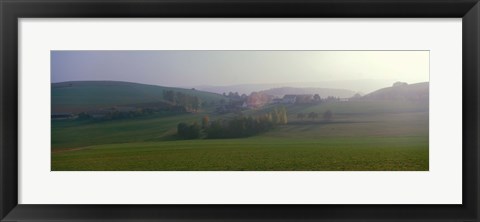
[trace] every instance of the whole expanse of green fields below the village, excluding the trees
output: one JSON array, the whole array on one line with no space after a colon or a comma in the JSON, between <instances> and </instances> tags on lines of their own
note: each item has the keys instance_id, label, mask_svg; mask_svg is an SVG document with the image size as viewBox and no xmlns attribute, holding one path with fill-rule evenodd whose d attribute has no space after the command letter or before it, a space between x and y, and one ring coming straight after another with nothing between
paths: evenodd
<instances>
[{"instance_id":1,"label":"whole expanse of green fields below the village, excluding the trees","mask_svg":"<svg viewBox=\"0 0 480 222\"><path fill-rule=\"evenodd\" d=\"M424 104L343 102L286 108L287 125L243 139L173 140L179 122L199 121L206 113L52 121L52 170L429 169ZM334 111L332 122L296 119L298 112L326 109Z\"/></svg>"}]
</instances>

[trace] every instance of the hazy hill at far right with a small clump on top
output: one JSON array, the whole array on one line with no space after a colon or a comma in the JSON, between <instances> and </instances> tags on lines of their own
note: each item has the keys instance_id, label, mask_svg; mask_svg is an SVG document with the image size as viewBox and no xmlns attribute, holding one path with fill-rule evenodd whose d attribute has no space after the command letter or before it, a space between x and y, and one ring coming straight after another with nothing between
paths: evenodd
<instances>
[{"instance_id":1,"label":"hazy hill at far right with a small clump on top","mask_svg":"<svg viewBox=\"0 0 480 222\"><path fill-rule=\"evenodd\" d=\"M419 101L428 102L428 82L405 84L379 89L362 97L366 100Z\"/></svg>"}]
</instances>

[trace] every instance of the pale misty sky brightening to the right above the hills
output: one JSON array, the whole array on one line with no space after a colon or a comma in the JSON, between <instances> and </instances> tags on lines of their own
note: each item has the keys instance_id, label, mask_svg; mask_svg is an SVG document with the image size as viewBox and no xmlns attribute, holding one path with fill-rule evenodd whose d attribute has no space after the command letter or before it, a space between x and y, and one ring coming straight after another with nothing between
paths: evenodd
<instances>
[{"instance_id":1,"label":"pale misty sky brightening to the right above the hills","mask_svg":"<svg viewBox=\"0 0 480 222\"><path fill-rule=\"evenodd\" d=\"M52 51L52 82L163 86L429 80L428 51Z\"/></svg>"}]
</instances>

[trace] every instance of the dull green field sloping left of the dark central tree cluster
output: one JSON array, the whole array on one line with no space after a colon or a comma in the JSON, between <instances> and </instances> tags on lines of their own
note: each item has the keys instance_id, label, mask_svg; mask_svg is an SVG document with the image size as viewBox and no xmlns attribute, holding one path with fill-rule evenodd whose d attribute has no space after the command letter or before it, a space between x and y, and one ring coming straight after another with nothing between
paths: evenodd
<instances>
[{"instance_id":1,"label":"dull green field sloping left of the dark central tree cluster","mask_svg":"<svg viewBox=\"0 0 480 222\"><path fill-rule=\"evenodd\" d=\"M179 122L199 121L203 114L153 115L107 121L52 121L52 149L99 144L163 141Z\"/></svg>"}]
</instances>

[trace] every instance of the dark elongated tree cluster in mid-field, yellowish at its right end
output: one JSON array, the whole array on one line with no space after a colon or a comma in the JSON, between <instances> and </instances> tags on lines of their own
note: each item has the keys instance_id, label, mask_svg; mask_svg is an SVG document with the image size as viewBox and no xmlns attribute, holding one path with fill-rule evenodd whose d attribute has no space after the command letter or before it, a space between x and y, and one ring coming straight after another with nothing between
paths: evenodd
<instances>
[{"instance_id":1,"label":"dark elongated tree cluster in mid-field, yellowish at its right end","mask_svg":"<svg viewBox=\"0 0 480 222\"><path fill-rule=\"evenodd\" d=\"M284 107L259 116L237 116L230 120L210 122L208 116L202 118L202 125L179 123L177 133L184 139L195 139L205 135L207 139L242 138L257 135L287 124L287 111Z\"/></svg>"}]
</instances>

